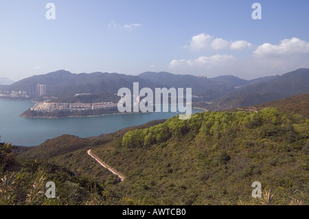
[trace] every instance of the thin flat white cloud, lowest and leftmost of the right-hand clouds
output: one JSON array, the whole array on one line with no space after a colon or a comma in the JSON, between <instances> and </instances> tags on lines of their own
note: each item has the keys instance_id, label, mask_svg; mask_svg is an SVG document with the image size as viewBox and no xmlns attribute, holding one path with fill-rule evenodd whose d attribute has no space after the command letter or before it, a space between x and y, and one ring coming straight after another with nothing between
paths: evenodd
<instances>
[{"instance_id":1,"label":"thin flat white cloud, lowest and leftmost of the right-hand clouds","mask_svg":"<svg viewBox=\"0 0 309 219\"><path fill-rule=\"evenodd\" d=\"M201 56L194 60L185 60L185 59L174 59L170 62L170 67L211 67L214 65L222 65L223 63L227 64L236 58L231 55L220 55L216 54L214 56Z\"/></svg>"}]
</instances>

